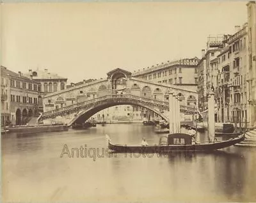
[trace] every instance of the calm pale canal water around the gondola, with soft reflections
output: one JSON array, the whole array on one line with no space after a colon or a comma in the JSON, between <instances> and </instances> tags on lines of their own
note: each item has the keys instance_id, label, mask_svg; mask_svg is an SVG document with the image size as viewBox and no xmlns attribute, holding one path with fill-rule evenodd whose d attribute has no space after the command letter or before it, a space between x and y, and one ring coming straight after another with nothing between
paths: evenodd
<instances>
[{"instance_id":1,"label":"calm pale canal water around the gondola, with soft reflections","mask_svg":"<svg viewBox=\"0 0 256 203\"><path fill-rule=\"evenodd\" d=\"M4 202L256 201L255 148L109 154L106 133L116 144L140 144L142 137L157 144L159 139L152 126L143 124L2 135Z\"/></svg>"}]
</instances>

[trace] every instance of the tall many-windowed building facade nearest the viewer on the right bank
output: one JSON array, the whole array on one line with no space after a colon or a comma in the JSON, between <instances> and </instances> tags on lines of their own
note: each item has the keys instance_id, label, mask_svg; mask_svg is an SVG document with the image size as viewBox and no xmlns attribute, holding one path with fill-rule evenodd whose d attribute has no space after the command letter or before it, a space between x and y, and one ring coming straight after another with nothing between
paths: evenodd
<instances>
[{"instance_id":1,"label":"tall many-windowed building facade nearest the viewer on the right bank","mask_svg":"<svg viewBox=\"0 0 256 203\"><path fill-rule=\"evenodd\" d=\"M223 43L225 47L218 55L218 86L216 101L218 105L218 121L239 122L248 119L248 26L228 36Z\"/></svg>"}]
</instances>

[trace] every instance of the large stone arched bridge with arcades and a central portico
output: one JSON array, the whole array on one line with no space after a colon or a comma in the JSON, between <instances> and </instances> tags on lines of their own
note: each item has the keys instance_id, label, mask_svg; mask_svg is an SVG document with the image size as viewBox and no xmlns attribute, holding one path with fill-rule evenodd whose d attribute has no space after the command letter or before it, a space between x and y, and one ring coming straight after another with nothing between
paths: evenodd
<instances>
[{"instance_id":1,"label":"large stone arched bridge with arcades and a central portico","mask_svg":"<svg viewBox=\"0 0 256 203\"><path fill-rule=\"evenodd\" d=\"M132 77L131 72L116 68L106 79L93 80L79 86L63 89L44 96L44 113L38 121L63 118L68 125L81 123L100 110L115 105L137 105L155 112L168 120L168 98L172 92L180 100L180 112L196 112L198 94L195 91L159 84Z\"/></svg>"}]
</instances>

